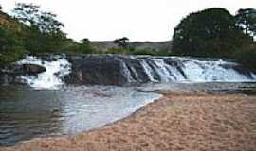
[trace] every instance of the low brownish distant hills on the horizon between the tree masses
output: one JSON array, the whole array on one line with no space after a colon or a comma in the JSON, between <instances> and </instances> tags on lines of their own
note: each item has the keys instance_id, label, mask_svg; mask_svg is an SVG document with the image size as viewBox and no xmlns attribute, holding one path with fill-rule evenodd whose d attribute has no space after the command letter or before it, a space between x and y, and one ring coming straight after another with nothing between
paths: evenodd
<instances>
[{"instance_id":1,"label":"low brownish distant hills on the horizon between the tree masses","mask_svg":"<svg viewBox=\"0 0 256 151\"><path fill-rule=\"evenodd\" d=\"M166 50L171 51L173 42L128 42L128 46L130 48L134 48L136 50ZM92 46L95 46L103 51L107 51L108 49L117 49L119 45L112 41L103 41L103 42L91 42Z\"/></svg>"}]
</instances>

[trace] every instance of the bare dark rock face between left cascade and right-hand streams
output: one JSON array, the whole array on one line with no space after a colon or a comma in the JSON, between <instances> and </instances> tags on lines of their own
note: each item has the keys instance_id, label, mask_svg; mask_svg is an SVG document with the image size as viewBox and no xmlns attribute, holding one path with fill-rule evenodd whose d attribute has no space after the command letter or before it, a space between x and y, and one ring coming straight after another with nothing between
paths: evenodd
<instances>
[{"instance_id":1,"label":"bare dark rock face between left cascade and right-hand streams","mask_svg":"<svg viewBox=\"0 0 256 151\"><path fill-rule=\"evenodd\" d=\"M123 85L128 79L123 73L120 58L111 55L68 57L68 61L72 64L72 72L69 76L65 76L64 80L69 84Z\"/></svg>"}]
</instances>

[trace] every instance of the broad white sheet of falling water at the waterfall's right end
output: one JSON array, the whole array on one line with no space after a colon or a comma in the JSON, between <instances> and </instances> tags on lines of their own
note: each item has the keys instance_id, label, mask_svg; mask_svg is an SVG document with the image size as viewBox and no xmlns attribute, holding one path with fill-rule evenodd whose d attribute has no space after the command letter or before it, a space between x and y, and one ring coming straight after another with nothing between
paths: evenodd
<instances>
[{"instance_id":1,"label":"broad white sheet of falling water at the waterfall's right end","mask_svg":"<svg viewBox=\"0 0 256 151\"><path fill-rule=\"evenodd\" d=\"M252 78L243 75L233 68L225 68L224 66L236 66L236 63L223 61L222 59L214 61L200 61L195 59L187 59L183 61L183 72L187 76L187 80L191 82L249 82L255 81L253 73Z\"/></svg>"}]
</instances>

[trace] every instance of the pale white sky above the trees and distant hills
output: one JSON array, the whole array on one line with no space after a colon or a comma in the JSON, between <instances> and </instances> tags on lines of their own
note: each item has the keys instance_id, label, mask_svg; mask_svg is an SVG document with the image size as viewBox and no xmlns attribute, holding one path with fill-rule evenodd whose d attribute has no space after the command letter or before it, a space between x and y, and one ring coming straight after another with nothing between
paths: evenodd
<instances>
[{"instance_id":1,"label":"pale white sky above the trees and distant hills","mask_svg":"<svg viewBox=\"0 0 256 151\"><path fill-rule=\"evenodd\" d=\"M256 0L0 0L6 12L19 2L57 14L64 32L77 41L170 41L174 27L191 12L217 7L235 14L239 8L256 8Z\"/></svg>"}]
</instances>

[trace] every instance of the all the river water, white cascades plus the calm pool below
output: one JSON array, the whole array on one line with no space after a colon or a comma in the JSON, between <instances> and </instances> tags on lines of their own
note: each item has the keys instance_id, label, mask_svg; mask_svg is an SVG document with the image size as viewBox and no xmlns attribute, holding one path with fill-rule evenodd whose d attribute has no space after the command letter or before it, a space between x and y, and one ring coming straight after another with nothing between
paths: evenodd
<instances>
[{"instance_id":1,"label":"all the river water, white cascades plus the calm pool below","mask_svg":"<svg viewBox=\"0 0 256 151\"><path fill-rule=\"evenodd\" d=\"M241 72L237 64L221 59L134 56L103 59L118 60L120 65L113 69L136 86L66 85L64 76L72 72L75 64L62 56L49 60L27 56L17 62L42 65L46 72L38 76L22 76L27 86L0 86L0 146L37 137L72 136L113 123L161 97L154 92L158 90L256 94L256 74ZM86 60L82 59L82 68L88 63ZM93 57L93 62L101 61L104 62L98 56ZM91 68L91 64L87 66ZM102 75L101 70L85 71L79 72L81 77L82 74L91 74L89 77L95 78ZM119 73L116 72L118 76ZM105 76L103 74L101 78ZM107 79L112 80L117 77Z\"/></svg>"}]
</instances>

